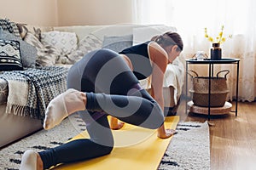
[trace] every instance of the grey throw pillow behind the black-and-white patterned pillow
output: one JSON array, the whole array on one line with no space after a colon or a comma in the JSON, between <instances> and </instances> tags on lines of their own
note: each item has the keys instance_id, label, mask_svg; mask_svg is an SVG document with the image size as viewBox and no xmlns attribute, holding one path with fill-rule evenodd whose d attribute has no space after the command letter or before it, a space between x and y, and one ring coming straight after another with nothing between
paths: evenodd
<instances>
[{"instance_id":1,"label":"grey throw pillow behind the black-and-white patterned pillow","mask_svg":"<svg viewBox=\"0 0 256 170\"><path fill-rule=\"evenodd\" d=\"M20 57L23 67L34 68L36 66L37 49L29 43L23 41L20 37L0 30L0 39L15 40L20 42Z\"/></svg>"}]
</instances>

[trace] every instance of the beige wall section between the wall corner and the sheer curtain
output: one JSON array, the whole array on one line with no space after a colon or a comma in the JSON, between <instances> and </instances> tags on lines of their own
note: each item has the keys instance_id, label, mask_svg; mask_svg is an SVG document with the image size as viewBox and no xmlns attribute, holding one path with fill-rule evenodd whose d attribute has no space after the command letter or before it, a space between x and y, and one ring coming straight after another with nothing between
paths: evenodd
<instances>
[{"instance_id":1,"label":"beige wall section between the wall corner and the sheer curtain","mask_svg":"<svg viewBox=\"0 0 256 170\"><path fill-rule=\"evenodd\" d=\"M131 0L58 0L59 26L131 23Z\"/></svg>"}]
</instances>

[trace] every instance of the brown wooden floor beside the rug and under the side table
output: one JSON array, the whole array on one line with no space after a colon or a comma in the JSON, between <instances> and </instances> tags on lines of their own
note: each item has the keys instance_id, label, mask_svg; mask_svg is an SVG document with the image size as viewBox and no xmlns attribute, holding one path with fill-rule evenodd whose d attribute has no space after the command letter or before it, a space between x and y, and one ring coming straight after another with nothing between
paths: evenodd
<instances>
[{"instance_id":1,"label":"brown wooden floor beside the rug and under the side table","mask_svg":"<svg viewBox=\"0 0 256 170\"><path fill-rule=\"evenodd\" d=\"M235 111L236 103L232 103ZM181 121L206 122L207 116L186 113L181 99L177 115ZM211 116L211 170L256 169L256 102L238 102L238 114Z\"/></svg>"}]
</instances>

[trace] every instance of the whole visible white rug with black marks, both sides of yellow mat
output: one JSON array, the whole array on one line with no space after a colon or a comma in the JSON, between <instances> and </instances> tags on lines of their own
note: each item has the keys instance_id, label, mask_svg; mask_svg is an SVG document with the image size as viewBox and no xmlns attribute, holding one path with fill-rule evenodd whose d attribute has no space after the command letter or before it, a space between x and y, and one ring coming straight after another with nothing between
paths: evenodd
<instances>
[{"instance_id":1,"label":"whole visible white rug with black marks, both sides of yellow mat","mask_svg":"<svg viewBox=\"0 0 256 170\"><path fill-rule=\"evenodd\" d=\"M84 122L79 116L70 116L61 122L60 126L49 131L41 130L0 150L0 167L4 170L18 170L21 156L25 150L40 151L55 147L84 130ZM160 162L159 170L167 169L210 169L210 141L207 122L178 123L177 134L172 138L166 154Z\"/></svg>"}]
</instances>

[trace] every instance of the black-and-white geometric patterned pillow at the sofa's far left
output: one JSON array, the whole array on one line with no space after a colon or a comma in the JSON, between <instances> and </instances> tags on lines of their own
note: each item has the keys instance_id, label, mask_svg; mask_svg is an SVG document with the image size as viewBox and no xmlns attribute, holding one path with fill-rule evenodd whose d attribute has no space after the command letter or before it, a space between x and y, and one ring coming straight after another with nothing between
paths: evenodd
<instances>
[{"instance_id":1,"label":"black-and-white geometric patterned pillow at the sofa's far left","mask_svg":"<svg viewBox=\"0 0 256 170\"><path fill-rule=\"evenodd\" d=\"M23 70L18 41L0 39L0 71Z\"/></svg>"}]
</instances>

